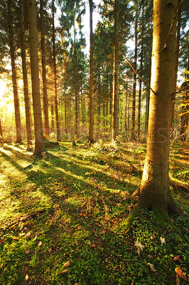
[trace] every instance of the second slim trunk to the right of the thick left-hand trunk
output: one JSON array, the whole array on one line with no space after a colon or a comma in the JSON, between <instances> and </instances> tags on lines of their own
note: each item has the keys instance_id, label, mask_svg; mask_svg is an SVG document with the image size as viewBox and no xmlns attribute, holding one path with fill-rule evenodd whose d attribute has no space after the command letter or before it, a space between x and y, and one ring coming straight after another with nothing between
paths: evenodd
<instances>
[{"instance_id":1,"label":"second slim trunk to the right of the thick left-hand trunk","mask_svg":"<svg viewBox=\"0 0 189 285\"><path fill-rule=\"evenodd\" d=\"M57 74L56 74L56 54L55 54L55 1L53 0L53 71L54 71L54 88L55 88L55 120L57 140L60 140L60 126L58 120L58 92L57 92Z\"/></svg>"}]
</instances>

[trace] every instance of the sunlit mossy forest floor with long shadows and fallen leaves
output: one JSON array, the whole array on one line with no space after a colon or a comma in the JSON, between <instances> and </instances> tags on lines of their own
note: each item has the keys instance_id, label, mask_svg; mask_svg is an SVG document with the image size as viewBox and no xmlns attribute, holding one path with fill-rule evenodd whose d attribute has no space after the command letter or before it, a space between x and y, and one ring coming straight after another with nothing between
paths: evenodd
<instances>
[{"instance_id":1,"label":"sunlit mossy forest floor with long shadows and fallen leaves","mask_svg":"<svg viewBox=\"0 0 189 285\"><path fill-rule=\"evenodd\" d=\"M1 145L0 284L188 284L187 217L158 223L141 210L127 228L145 151L60 142L38 159L26 145ZM171 192L185 213L188 154L171 147Z\"/></svg>"}]
</instances>

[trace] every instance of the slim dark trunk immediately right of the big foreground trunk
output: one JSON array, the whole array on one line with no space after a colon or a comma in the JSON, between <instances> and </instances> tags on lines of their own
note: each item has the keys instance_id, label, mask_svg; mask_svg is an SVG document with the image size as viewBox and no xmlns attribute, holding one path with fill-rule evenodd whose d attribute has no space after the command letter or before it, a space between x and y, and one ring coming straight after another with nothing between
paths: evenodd
<instances>
[{"instance_id":1,"label":"slim dark trunk immediately right of the big foreground trunk","mask_svg":"<svg viewBox=\"0 0 189 285\"><path fill-rule=\"evenodd\" d=\"M180 4L178 1L178 4ZM174 92L173 92L173 107L172 107L172 116L171 116L171 124L174 124L174 115L175 115L175 92L177 86L177 73L178 73L178 56L179 56L179 43L180 43L180 22L181 22L181 6L178 10L177 16L177 31L176 31L176 58L175 58L175 73L174 73Z\"/></svg>"}]
</instances>

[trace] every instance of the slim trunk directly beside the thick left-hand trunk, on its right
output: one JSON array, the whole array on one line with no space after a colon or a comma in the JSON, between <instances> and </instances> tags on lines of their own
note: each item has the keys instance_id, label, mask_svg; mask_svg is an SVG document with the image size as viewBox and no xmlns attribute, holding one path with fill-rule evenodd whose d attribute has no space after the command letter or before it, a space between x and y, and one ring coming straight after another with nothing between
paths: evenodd
<instances>
[{"instance_id":1,"label":"slim trunk directly beside the thick left-hand trunk, on its right","mask_svg":"<svg viewBox=\"0 0 189 285\"><path fill-rule=\"evenodd\" d=\"M44 1L40 0L41 15L41 55L42 55L42 78L43 78L43 113L45 121L45 136L49 138L49 120L48 120L48 93L46 78L46 59L45 59L45 35L44 35Z\"/></svg>"}]
</instances>

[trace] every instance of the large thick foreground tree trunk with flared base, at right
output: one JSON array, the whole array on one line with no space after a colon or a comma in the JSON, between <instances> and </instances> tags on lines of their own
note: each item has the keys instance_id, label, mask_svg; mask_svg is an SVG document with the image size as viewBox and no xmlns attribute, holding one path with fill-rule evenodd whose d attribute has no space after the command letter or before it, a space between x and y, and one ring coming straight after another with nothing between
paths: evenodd
<instances>
[{"instance_id":1,"label":"large thick foreground tree trunk with flared base, at right","mask_svg":"<svg viewBox=\"0 0 189 285\"><path fill-rule=\"evenodd\" d=\"M169 137L175 63L177 0L153 1L151 96L146 159L138 207L175 212L168 180Z\"/></svg>"}]
</instances>

